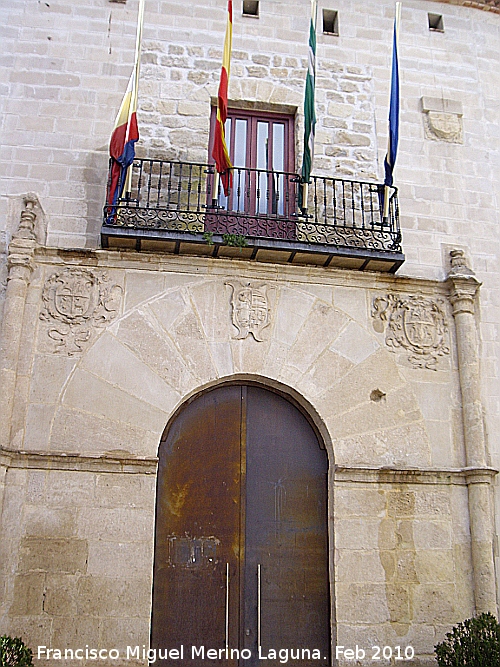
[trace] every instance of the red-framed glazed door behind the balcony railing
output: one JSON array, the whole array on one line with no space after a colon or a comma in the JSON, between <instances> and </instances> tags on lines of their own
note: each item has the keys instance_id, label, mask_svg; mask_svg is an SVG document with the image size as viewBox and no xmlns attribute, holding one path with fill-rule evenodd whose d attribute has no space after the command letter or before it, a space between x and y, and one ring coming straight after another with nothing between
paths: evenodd
<instances>
[{"instance_id":1,"label":"red-framed glazed door behind the balcony railing","mask_svg":"<svg viewBox=\"0 0 500 667\"><path fill-rule=\"evenodd\" d=\"M220 207L247 215L290 217L296 198L293 130L291 115L229 110L225 133L234 166L233 188L229 197L218 193Z\"/></svg>"}]
</instances>

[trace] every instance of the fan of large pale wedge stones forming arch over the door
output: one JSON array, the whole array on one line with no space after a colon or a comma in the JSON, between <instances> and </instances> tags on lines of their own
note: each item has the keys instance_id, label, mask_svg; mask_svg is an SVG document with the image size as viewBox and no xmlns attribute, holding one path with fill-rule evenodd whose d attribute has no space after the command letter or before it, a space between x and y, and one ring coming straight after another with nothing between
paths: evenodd
<instances>
[{"instance_id":1,"label":"fan of large pale wedge stones forming arch over the door","mask_svg":"<svg viewBox=\"0 0 500 667\"><path fill-rule=\"evenodd\" d=\"M126 310L73 369L59 396L50 448L156 456L165 424L187 397L245 377L287 387L312 409L337 464L430 465L416 397L368 327L368 298L357 312L334 306L328 287L277 283L267 275L249 282L267 288L270 325L261 342L252 333L237 338L230 288L220 277L159 285ZM374 390L383 400L370 398Z\"/></svg>"}]
</instances>

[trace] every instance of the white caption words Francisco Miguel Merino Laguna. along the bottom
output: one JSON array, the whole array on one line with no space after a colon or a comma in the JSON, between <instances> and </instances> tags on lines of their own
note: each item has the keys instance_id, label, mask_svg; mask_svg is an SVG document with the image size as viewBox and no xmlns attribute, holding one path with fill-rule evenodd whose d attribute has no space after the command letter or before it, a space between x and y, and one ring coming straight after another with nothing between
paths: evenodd
<instances>
[{"instance_id":1,"label":"white caption words Francisco Miguel Merino Laguna. along the bottom","mask_svg":"<svg viewBox=\"0 0 500 667\"><path fill-rule=\"evenodd\" d=\"M125 648L125 655L121 654L117 648L92 648L85 646L85 648L48 648L47 646L38 646L37 658L38 660L138 660L142 658L147 660L149 664L154 664L157 660L250 660L252 651L248 648L206 648L205 646L190 646L186 647L181 644L179 648L148 648L145 644L141 646L127 646ZM268 649L263 650L261 646L258 649L258 656L260 660L279 660L281 663L286 663L289 660L321 660L321 652L319 649L297 648L297 649ZM323 660L327 660L326 657Z\"/></svg>"}]
</instances>

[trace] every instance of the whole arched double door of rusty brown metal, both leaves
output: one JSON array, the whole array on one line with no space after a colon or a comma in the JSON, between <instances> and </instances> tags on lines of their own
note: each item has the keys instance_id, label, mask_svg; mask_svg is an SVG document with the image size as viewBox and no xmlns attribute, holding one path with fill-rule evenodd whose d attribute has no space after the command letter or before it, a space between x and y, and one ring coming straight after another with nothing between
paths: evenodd
<instances>
[{"instance_id":1,"label":"whole arched double door of rusty brown metal, both leaves","mask_svg":"<svg viewBox=\"0 0 500 667\"><path fill-rule=\"evenodd\" d=\"M280 650L329 664L327 473L274 392L226 385L187 405L159 451L151 647L192 665L271 667Z\"/></svg>"}]
</instances>

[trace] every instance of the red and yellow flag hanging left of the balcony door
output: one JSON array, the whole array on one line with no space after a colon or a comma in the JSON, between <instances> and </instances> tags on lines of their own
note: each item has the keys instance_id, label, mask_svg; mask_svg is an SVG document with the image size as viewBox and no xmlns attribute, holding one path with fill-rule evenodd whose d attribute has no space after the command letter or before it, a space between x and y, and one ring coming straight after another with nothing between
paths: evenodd
<instances>
[{"instance_id":1,"label":"red and yellow flag hanging left of the balcony door","mask_svg":"<svg viewBox=\"0 0 500 667\"><path fill-rule=\"evenodd\" d=\"M224 194L229 195L233 185L233 165L229 158L226 145L224 124L227 118L227 90L229 85L229 71L231 66L231 48L233 42L233 0L227 3L226 37L224 39L224 53L222 56L222 69L220 73L219 93L217 95L217 119L215 121L215 136L212 157L220 174ZM214 193L217 197L217 193Z\"/></svg>"}]
</instances>

